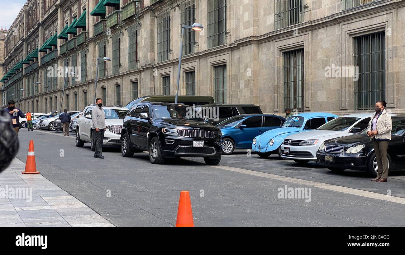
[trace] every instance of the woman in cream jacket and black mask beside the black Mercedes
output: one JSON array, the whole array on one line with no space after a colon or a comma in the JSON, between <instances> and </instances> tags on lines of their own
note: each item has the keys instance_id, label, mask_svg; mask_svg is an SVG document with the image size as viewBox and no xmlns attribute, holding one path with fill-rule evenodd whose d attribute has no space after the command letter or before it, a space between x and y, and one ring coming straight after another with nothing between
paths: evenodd
<instances>
[{"instance_id":1,"label":"woman in cream jacket and black mask beside the black Mercedes","mask_svg":"<svg viewBox=\"0 0 405 255\"><path fill-rule=\"evenodd\" d=\"M367 135L374 142L374 152L377 157L378 173L373 182L387 182L388 179L388 142L391 140L391 116L385 110L386 101L375 103L375 113L371 116Z\"/></svg>"}]
</instances>

